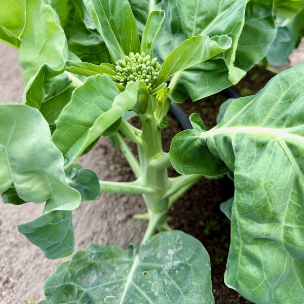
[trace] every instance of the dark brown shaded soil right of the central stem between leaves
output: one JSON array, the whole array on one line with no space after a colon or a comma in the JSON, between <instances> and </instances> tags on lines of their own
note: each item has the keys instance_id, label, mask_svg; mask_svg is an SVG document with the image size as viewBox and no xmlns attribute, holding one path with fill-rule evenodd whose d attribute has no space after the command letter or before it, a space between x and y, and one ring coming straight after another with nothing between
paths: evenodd
<instances>
[{"instance_id":1,"label":"dark brown shaded soil right of the central stem between leaves","mask_svg":"<svg viewBox=\"0 0 304 304\"><path fill-rule=\"evenodd\" d=\"M273 73L254 67L233 89L241 96L257 93ZM197 102L186 100L181 107L191 115L197 112L207 129L215 126L219 106L227 98L219 93ZM169 113L168 128L164 130L164 149L174 134L180 132L177 120ZM171 174L172 171L170 172ZM169 173L169 174L170 174ZM215 304L251 303L224 284L224 272L230 247L230 220L220 211L220 204L234 195L233 181L225 177L219 180L201 178L182 198L174 203L168 216L173 229L182 230L199 239L207 249L211 260L212 289Z\"/></svg>"}]
</instances>

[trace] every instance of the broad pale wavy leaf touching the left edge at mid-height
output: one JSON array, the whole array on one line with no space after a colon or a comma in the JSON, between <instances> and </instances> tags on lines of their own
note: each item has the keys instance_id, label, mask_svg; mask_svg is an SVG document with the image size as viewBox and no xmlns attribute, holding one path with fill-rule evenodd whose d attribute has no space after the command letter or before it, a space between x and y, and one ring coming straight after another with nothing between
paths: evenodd
<instances>
[{"instance_id":1,"label":"broad pale wavy leaf touching the left edge at mid-height","mask_svg":"<svg viewBox=\"0 0 304 304\"><path fill-rule=\"evenodd\" d=\"M80 194L66 184L62 154L41 113L26 105L5 104L1 114L0 192L13 184L25 202L48 201L48 211L77 208Z\"/></svg>"}]
</instances>

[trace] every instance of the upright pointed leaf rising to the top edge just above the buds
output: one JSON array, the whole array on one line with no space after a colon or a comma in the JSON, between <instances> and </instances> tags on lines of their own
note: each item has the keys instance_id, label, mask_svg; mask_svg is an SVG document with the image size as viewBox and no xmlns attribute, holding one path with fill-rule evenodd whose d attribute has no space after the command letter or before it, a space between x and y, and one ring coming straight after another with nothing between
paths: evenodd
<instances>
[{"instance_id":1,"label":"upright pointed leaf rising to the top edge just above the buds","mask_svg":"<svg viewBox=\"0 0 304 304\"><path fill-rule=\"evenodd\" d=\"M127 0L84 0L112 62L140 51L136 20Z\"/></svg>"}]
</instances>

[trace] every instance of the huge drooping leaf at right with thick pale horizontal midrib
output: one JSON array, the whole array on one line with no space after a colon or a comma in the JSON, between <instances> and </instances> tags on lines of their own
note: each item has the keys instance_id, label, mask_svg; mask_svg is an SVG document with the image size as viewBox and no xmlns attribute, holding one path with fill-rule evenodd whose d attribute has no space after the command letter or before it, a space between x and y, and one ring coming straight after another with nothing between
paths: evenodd
<instances>
[{"instance_id":1,"label":"huge drooping leaf at right with thick pale horizontal midrib","mask_svg":"<svg viewBox=\"0 0 304 304\"><path fill-rule=\"evenodd\" d=\"M232 101L218 126L197 134L234 172L225 283L257 304L304 298L303 82L304 64L281 72L251 100Z\"/></svg>"}]
</instances>

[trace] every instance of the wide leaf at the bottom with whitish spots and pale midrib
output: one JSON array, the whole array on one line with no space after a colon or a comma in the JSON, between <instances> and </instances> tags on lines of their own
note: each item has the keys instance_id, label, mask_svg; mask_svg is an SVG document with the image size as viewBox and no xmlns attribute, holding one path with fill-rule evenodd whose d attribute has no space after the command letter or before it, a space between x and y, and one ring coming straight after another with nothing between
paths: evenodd
<instances>
[{"instance_id":1,"label":"wide leaf at the bottom with whitish spots and pale midrib","mask_svg":"<svg viewBox=\"0 0 304 304\"><path fill-rule=\"evenodd\" d=\"M212 304L210 269L204 246L180 231L159 233L128 251L89 244L59 265L40 304Z\"/></svg>"}]
</instances>

